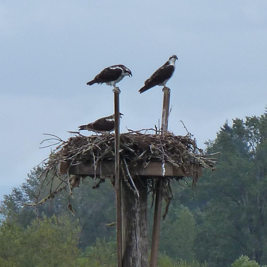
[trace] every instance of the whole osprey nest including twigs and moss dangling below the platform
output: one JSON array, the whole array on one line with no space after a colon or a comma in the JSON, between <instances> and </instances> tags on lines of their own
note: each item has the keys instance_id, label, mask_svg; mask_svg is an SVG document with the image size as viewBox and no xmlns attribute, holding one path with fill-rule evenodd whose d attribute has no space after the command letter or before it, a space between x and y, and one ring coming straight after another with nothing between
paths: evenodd
<instances>
[{"instance_id":1,"label":"whole osprey nest including twigs and moss dangling below the platform","mask_svg":"<svg viewBox=\"0 0 267 267\"><path fill-rule=\"evenodd\" d=\"M54 135L53 138L46 139L57 140L57 144L60 145L58 145L58 147L52 151L50 157L43 162L44 171L37 192L37 199L44 184L51 185L50 195L39 202L36 201L34 205L41 204L47 199L53 198L56 193L63 189L68 188L71 195L72 189L78 187L80 180L84 178L83 175L61 175L58 172L60 163L67 161L70 164L69 166L72 166L77 164L77 162L92 162L96 168L100 162L114 161L114 134L92 136L83 136L78 132L77 134L78 135L74 137L70 137L67 141ZM176 136L167 132L164 135L158 135L143 134L140 131L122 133L120 134L120 168L123 174L122 179L138 194L134 181L129 173L127 162L131 162L132 164L143 162L145 166L150 162L160 162L163 165L168 162L176 168L186 170L192 166L214 169L216 159L207 158L207 155L204 155L203 151L197 148L195 139L192 139L189 134L186 136ZM52 188L53 181L56 178L58 178L60 182L57 183L58 186L56 188ZM95 179L93 188L99 187L100 183L104 181L103 177L96 174L92 178ZM149 191L151 191L154 196L156 177L149 178ZM169 180L181 178L182 177L165 177L164 179L165 186L163 186L163 196L167 201L166 213L169 200L173 197ZM197 175L193 177L193 183L197 181L197 178ZM98 182L97 179L99 179ZM69 209L72 210L70 202L68 206Z\"/></svg>"}]
</instances>

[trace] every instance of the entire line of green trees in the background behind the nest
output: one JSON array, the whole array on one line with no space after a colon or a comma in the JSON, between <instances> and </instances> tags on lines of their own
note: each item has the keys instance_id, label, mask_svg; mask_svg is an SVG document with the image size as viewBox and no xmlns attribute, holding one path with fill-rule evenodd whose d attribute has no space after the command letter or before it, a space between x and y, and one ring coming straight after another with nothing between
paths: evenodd
<instances>
[{"instance_id":1,"label":"entire line of green trees in the background behind the nest","mask_svg":"<svg viewBox=\"0 0 267 267\"><path fill-rule=\"evenodd\" d=\"M267 113L234 119L206 143L216 153L216 171L173 183L174 199L161 223L159 266L239 267L267 264ZM109 181L91 189L84 179L38 207L41 167L4 196L0 214L0 266L116 266L114 189ZM189 185L188 185L189 184ZM57 186L57 185L53 185ZM41 195L49 194L50 185ZM149 203L150 204L150 203ZM149 209L149 228L153 221ZM150 231L151 232L151 231Z\"/></svg>"}]
</instances>

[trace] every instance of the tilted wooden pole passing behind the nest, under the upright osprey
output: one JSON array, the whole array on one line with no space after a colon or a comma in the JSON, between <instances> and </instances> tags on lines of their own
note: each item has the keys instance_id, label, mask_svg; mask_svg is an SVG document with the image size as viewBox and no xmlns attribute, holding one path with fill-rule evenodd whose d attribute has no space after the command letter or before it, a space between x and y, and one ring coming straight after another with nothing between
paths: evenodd
<instances>
[{"instance_id":1,"label":"tilted wooden pole passing behind the nest, under the upright osprey","mask_svg":"<svg viewBox=\"0 0 267 267\"><path fill-rule=\"evenodd\" d=\"M169 120L169 108L170 108L170 97L171 90L168 87L163 88L163 107L162 107L162 118L161 118L161 135L164 135L168 129ZM155 199L155 210L154 210L154 221L153 221L153 232L152 232L152 244L151 244L151 256L150 256L150 267L157 267L158 263L158 251L159 251L159 233L160 233L160 221L161 221L161 207L162 207L162 178L159 178L156 183L156 199Z\"/></svg>"}]
</instances>

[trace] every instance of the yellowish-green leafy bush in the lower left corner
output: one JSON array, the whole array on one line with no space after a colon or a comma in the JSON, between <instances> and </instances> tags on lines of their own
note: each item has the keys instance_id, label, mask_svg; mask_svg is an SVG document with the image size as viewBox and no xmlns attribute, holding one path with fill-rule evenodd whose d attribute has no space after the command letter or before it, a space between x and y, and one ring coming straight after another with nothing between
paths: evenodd
<instances>
[{"instance_id":1,"label":"yellowish-green leafy bush in the lower left corner","mask_svg":"<svg viewBox=\"0 0 267 267\"><path fill-rule=\"evenodd\" d=\"M26 229L7 221L0 226L0 257L14 266L71 267L80 254L79 233L78 222L66 216L35 219Z\"/></svg>"}]
</instances>

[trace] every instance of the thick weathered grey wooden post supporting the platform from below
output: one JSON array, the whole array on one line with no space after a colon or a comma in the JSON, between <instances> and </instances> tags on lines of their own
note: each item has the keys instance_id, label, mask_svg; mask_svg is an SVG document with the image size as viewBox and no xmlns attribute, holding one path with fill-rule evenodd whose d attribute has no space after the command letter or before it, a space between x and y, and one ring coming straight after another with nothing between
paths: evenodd
<instances>
[{"instance_id":1,"label":"thick weathered grey wooden post supporting the platform from below","mask_svg":"<svg viewBox=\"0 0 267 267\"><path fill-rule=\"evenodd\" d=\"M123 267L148 267L147 177L122 181Z\"/></svg>"}]
</instances>

